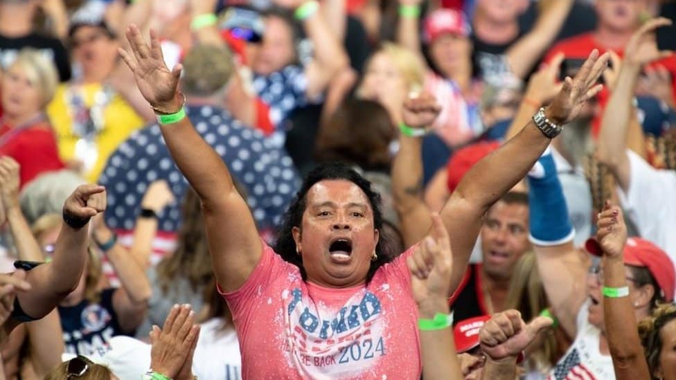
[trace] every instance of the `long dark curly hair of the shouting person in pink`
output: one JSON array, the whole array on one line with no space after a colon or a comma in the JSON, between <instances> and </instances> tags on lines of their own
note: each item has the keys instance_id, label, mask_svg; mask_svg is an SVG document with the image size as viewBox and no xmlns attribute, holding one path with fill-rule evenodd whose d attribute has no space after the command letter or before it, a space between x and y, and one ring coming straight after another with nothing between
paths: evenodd
<instances>
[{"instance_id":1,"label":"long dark curly hair of the shouting person in pink","mask_svg":"<svg viewBox=\"0 0 676 380\"><path fill-rule=\"evenodd\" d=\"M380 231L380 239L375 246L375 253L377 260L371 261L371 268L366 273L366 283L371 281L375 271L383 264L390 262L393 257L393 248L389 242L386 234L382 233L382 210L380 206L380 194L371 189L371 182L359 175L353 168L344 163L323 163L317 168L314 168L308 176L305 177L301 190L296 193L294 201L287 209L280 227L277 230L276 242L274 244L274 251L278 253L285 261L298 266L303 280L307 280L308 275L303 268L303 257L296 253L296 242L294 242L291 233L294 227L301 228L303 221L303 212L307 206L307 194L310 188L319 181L327 179L342 179L350 181L359 186L366 194L368 203L371 203L371 210L373 210L373 226Z\"/></svg>"}]
</instances>

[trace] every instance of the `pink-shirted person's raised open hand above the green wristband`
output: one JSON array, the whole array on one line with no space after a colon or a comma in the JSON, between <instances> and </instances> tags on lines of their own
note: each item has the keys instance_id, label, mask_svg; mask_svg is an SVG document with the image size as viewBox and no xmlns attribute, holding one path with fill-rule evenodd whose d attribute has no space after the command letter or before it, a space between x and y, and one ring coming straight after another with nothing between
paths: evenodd
<instances>
[{"instance_id":1,"label":"pink-shirted person's raised open hand above the green wristband","mask_svg":"<svg viewBox=\"0 0 676 380\"><path fill-rule=\"evenodd\" d=\"M177 98L176 88L181 76L181 64L177 64L172 70L167 68L154 30L150 30L150 46L145 43L141 31L134 24L127 28L126 36L130 51L120 48L119 53L134 73L136 86L143 98L157 109L179 109L182 100Z\"/></svg>"}]
</instances>

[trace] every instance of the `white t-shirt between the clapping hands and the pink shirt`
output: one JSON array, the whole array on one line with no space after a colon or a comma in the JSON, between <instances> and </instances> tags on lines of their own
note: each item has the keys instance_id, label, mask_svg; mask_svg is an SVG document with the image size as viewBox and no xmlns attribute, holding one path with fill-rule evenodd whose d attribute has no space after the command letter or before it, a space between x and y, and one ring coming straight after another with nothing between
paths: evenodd
<instances>
[{"instance_id":1,"label":"white t-shirt between the clapping hands and the pink shirt","mask_svg":"<svg viewBox=\"0 0 676 380\"><path fill-rule=\"evenodd\" d=\"M200 325L193 356L193 373L199 379L242 379L242 356L235 327L220 331L222 323L222 318L212 318Z\"/></svg>"}]
</instances>

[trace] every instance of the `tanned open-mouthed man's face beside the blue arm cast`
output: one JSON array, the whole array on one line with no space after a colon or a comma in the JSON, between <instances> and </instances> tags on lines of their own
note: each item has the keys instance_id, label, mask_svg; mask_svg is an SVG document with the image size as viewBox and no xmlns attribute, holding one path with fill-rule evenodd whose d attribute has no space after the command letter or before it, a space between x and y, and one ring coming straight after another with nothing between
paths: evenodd
<instances>
[{"instance_id":1,"label":"tanned open-mouthed man's face beside the blue arm cast","mask_svg":"<svg viewBox=\"0 0 676 380\"><path fill-rule=\"evenodd\" d=\"M508 280L515 264L528 249L528 206L498 201L481 228L483 269L492 278Z\"/></svg>"}]
</instances>

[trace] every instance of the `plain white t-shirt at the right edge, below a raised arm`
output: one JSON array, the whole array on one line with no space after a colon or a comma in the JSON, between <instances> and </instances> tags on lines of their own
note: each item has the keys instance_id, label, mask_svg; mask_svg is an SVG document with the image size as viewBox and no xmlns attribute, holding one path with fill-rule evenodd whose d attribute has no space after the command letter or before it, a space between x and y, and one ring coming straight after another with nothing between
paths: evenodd
<instances>
[{"instance_id":1,"label":"plain white t-shirt at the right edge, below a raised arm","mask_svg":"<svg viewBox=\"0 0 676 380\"><path fill-rule=\"evenodd\" d=\"M641 156L627 151L630 162L628 192L618 189L622 207L643 239L664 249L676 262L676 171L652 168Z\"/></svg>"}]
</instances>

